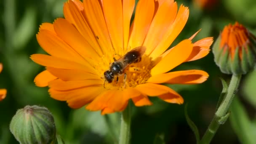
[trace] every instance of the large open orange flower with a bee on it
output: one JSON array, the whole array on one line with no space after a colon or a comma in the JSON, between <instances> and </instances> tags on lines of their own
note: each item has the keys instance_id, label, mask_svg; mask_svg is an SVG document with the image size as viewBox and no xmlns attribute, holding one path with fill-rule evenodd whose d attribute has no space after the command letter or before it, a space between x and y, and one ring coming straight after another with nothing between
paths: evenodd
<instances>
[{"instance_id":1,"label":"large open orange flower with a bee on it","mask_svg":"<svg viewBox=\"0 0 256 144\"><path fill-rule=\"evenodd\" d=\"M49 86L51 97L67 101L69 107L84 105L101 114L123 111L132 99L136 106L152 105L148 96L182 104L183 98L171 88L160 85L203 83L208 74L202 70L168 72L179 64L206 56L212 37L195 43L181 41L166 51L187 22L189 9L173 0L69 0L64 4L65 19L43 23L37 34L40 46L51 56L33 54L31 59L46 67L35 77L37 86ZM113 58L144 46L138 63L129 65L105 82ZM126 78L124 77L126 75ZM105 84L104 84L105 82Z\"/></svg>"}]
</instances>

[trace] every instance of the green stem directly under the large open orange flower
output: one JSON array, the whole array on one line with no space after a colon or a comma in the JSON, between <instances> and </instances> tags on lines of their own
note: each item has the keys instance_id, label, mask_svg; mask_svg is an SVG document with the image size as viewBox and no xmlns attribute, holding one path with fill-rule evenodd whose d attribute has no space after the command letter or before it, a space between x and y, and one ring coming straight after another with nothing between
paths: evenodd
<instances>
[{"instance_id":1,"label":"green stem directly under the large open orange flower","mask_svg":"<svg viewBox=\"0 0 256 144\"><path fill-rule=\"evenodd\" d=\"M119 144L129 144L131 128L131 104L129 102L121 115Z\"/></svg>"}]
</instances>

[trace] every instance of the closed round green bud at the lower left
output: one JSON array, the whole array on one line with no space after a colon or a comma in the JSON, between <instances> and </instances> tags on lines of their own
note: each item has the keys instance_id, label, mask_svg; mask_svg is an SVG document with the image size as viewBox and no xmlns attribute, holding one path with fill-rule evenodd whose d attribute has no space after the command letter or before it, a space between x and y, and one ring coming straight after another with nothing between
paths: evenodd
<instances>
[{"instance_id":1,"label":"closed round green bud at the lower left","mask_svg":"<svg viewBox=\"0 0 256 144\"><path fill-rule=\"evenodd\" d=\"M38 106L19 109L11 120L10 130L21 144L49 144L56 135L51 112Z\"/></svg>"}]
</instances>

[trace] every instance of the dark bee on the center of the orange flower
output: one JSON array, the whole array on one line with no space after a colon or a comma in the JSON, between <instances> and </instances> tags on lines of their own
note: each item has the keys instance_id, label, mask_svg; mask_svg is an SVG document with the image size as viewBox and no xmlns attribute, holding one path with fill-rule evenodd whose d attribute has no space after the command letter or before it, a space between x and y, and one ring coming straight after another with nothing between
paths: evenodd
<instances>
[{"instance_id":1,"label":"dark bee on the center of the orange flower","mask_svg":"<svg viewBox=\"0 0 256 144\"><path fill-rule=\"evenodd\" d=\"M139 46L133 48L120 59L116 60L114 58L114 62L110 64L109 70L104 72L105 81L107 80L108 83L112 83L114 77L123 74L126 67L128 67L132 63L141 61L141 56L145 53L145 50L146 48L144 46Z\"/></svg>"}]
</instances>

